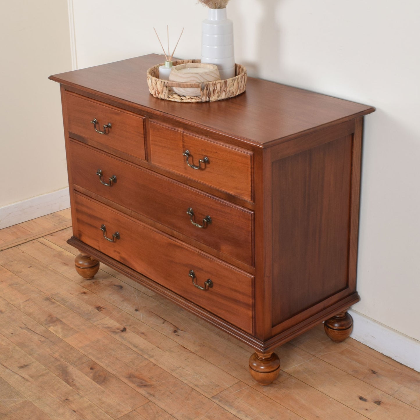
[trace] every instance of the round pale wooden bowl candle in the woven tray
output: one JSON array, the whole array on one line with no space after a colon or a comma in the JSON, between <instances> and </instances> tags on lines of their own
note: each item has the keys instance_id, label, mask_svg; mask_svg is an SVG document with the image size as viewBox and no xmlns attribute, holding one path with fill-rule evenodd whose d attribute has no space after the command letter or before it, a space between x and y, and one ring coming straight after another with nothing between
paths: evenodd
<instances>
[{"instance_id":1,"label":"round pale wooden bowl candle in the woven tray","mask_svg":"<svg viewBox=\"0 0 420 420\"><path fill-rule=\"evenodd\" d=\"M217 66L214 64L186 63L173 66L169 80L176 83L197 84L206 81L220 80L220 73ZM199 87L172 87L172 90L182 96L201 95Z\"/></svg>"}]
</instances>

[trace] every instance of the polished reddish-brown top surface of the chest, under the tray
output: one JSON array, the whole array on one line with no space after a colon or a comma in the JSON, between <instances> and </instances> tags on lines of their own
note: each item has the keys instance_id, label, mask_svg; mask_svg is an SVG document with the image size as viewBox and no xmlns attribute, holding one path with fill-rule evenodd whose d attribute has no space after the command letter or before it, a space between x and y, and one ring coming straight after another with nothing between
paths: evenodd
<instances>
[{"instance_id":1,"label":"polished reddish-brown top surface of the chest, under the tray","mask_svg":"<svg viewBox=\"0 0 420 420\"><path fill-rule=\"evenodd\" d=\"M162 56L149 54L56 74L50 79L260 147L374 111L367 105L251 77L246 92L229 100L196 104L165 101L150 95L146 78L147 69L161 61Z\"/></svg>"}]
</instances>

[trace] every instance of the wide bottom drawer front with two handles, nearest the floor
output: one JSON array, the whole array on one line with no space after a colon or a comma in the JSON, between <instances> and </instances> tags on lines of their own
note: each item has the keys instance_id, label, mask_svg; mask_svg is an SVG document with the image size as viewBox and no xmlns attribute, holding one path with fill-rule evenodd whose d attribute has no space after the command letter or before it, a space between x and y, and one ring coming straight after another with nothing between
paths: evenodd
<instances>
[{"instance_id":1,"label":"wide bottom drawer front with two handles, nearest the floor","mask_svg":"<svg viewBox=\"0 0 420 420\"><path fill-rule=\"evenodd\" d=\"M253 277L180 241L111 210L81 194L75 194L76 227L74 236L111 258L133 268L185 299L220 318L252 333ZM100 228L104 225L106 232ZM113 239L109 241L104 234ZM200 290L194 281L207 288Z\"/></svg>"}]
</instances>

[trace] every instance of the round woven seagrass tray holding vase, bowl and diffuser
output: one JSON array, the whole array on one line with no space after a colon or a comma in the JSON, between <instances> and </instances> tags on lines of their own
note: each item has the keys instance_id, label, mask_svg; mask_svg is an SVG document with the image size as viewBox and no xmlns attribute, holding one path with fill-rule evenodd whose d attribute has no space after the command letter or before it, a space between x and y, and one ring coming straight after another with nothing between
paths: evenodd
<instances>
[{"instance_id":1,"label":"round woven seagrass tray holding vase, bowl and diffuser","mask_svg":"<svg viewBox=\"0 0 420 420\"><path fill-rule=\"evenodd\" d=\"M200 63L200 60L176 60L173 65L185 63ZM179 83L159 79L159 67L164 64L157 64L147 70L147 85L155 98L175 102L213 102L237 96L245 92L247 87L247 69L241 64L235 64L236 76L231 79L202 83ZM181 96L173 92L171 87L199 87L201 96Z\"/></svg>"}]
</instances>

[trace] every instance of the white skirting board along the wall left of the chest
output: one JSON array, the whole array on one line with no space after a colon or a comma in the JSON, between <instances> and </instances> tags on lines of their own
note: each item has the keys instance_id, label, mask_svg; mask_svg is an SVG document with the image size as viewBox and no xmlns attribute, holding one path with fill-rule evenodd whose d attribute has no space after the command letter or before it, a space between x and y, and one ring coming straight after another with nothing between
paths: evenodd
<instances>
[{"instance_id":1,"label":"white skirting board along the wall left of the chest","mask_svg":"<svg viewBox=\"0 0 420 420\"><path fill-rule=\"evenodd\" d=\"M68 187L0 207L0 229L70 207Z\"/></svg>"}]
</instances>

